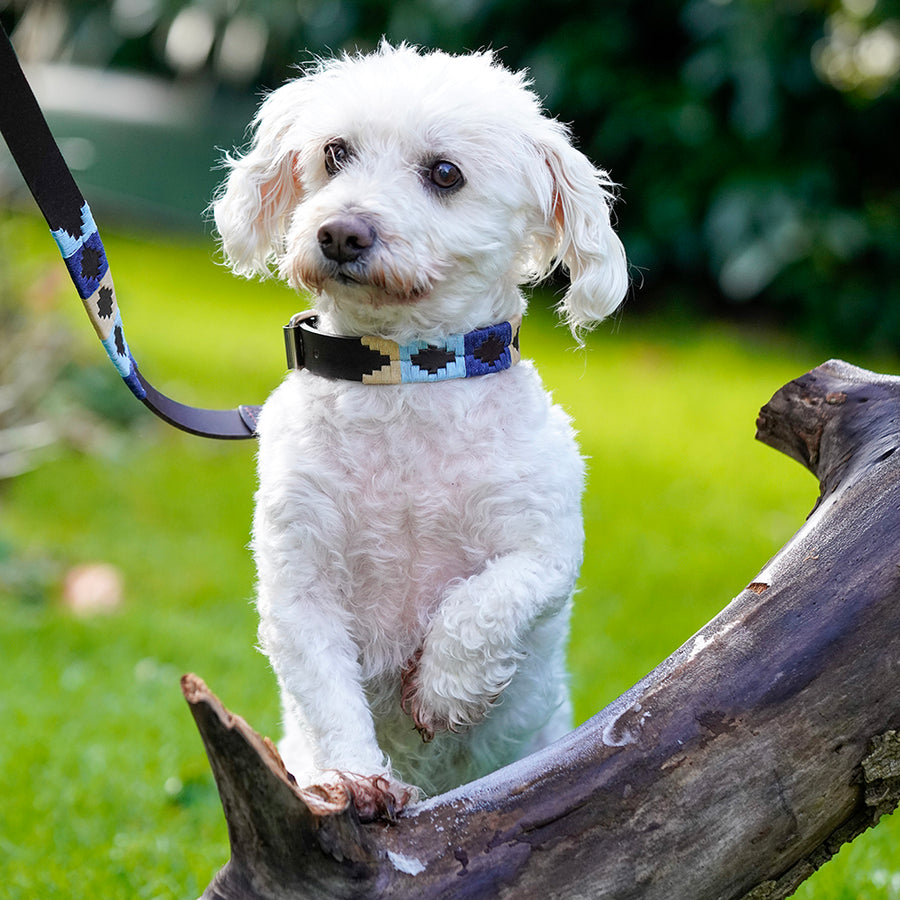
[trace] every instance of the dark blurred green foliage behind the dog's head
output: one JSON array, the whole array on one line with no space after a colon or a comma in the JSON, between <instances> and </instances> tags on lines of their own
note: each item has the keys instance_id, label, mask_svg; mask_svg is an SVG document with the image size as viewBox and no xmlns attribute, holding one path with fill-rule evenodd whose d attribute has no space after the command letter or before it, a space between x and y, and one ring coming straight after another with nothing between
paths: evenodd
<instances>
[{"instance_id":1,"label":"dark blurred green foliage behind the dog's head","mask_svg":"<svg viewBox=\"0 0 900 900\"><path fill-rule=\"evenodd\" d=\"M623 185L641 305L900 340L900 0L8 0L17 46L227 91L385 34L528 67Z\"/></svg>"}]
</instances>

